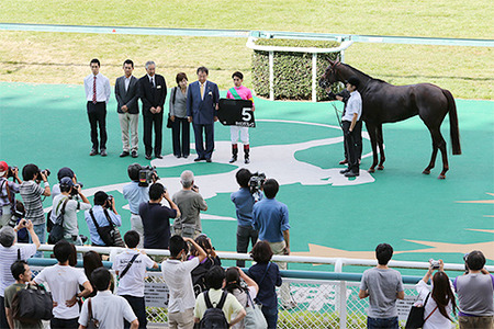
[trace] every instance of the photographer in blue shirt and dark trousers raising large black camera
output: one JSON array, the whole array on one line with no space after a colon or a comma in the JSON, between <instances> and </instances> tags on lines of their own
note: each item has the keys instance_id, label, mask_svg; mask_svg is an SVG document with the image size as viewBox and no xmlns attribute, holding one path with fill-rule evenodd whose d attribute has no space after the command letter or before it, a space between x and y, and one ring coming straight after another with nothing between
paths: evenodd
<instances>
[{"instance_id":1,"label":"photographer in blue shirt and dark trousers raising large black camera","mask_svg":"<svg viewBox=\"0 0 494 329\"><path fill-rule=\"evenodd\" d=\"M232 193L231 198L235 204L237 214L237 252L247 253L249 241L256 245L259 231L254 228L252 207L256 202L250 193L249 181L252 174L248 169L240 169L235 174L240 189ZM245 261L237 260L237 266L244 268Z\"/></svg>"}]
</instances>

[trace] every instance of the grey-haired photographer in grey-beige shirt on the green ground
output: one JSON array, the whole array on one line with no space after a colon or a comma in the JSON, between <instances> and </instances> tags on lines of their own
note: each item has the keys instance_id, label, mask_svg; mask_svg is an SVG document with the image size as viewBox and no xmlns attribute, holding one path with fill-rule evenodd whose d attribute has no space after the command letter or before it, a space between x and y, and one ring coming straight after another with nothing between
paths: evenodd
<instances>
[{"instance_id":1,"label":"grey-haired photographer in grey-beige shirt on the green ground","mask_svg":"<svg viewBox=\"0 0 494 329\"><path fill-rule=\"evenodd\" d=\"M173 223L173 234L195 239L202 232L200 212L207 211L207 204L199 188L194 185L194 174L186 170L180 175L182 190L173 194L173 202L180 209L179 216Z\"/></svg>"}]
</instances>

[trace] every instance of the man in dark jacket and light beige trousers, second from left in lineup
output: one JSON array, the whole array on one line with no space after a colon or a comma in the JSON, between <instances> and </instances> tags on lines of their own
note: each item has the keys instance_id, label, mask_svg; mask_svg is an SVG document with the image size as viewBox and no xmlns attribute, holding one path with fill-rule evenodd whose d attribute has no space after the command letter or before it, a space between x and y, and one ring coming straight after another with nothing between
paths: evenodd
<instances>
[{"instance_id":1,"label":"man in dark jacket and light beige trousers, second from left in lineup","mask_svg":"<svg viewBox=\"0 0 494 329\"><path fill-rule=\"evenodd\" d=\"M122 129L123 151L121 158L132 157L137 158L137 149L139 138L137 136L137 124L139 121L139 104L137 78L132 75L134 71L134 61L127 59L123 64L124 76L116 79L115 82L115 98L116 112L119 112L120 127ZM128 140L128 127L131 128L131 143ZM131 148L132 144L132 148Z\"/></svg>"}]
</instances>

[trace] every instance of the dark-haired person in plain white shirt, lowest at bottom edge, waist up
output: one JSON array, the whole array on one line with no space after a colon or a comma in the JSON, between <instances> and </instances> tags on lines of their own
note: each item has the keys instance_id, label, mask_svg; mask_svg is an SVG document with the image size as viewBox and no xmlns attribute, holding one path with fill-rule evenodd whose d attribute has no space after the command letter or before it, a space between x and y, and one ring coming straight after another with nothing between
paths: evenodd
<instances>
[{"instance_id":1,"label":"dark-haired person in plain white shirt, lowest at bottom edge, waist up","mask_svg":"<svg viewBox=\"0 0 494 329\"><path fill-rule=\"evenodd\" d=\"M91 315L98 321L100 329L116 329L124 327L124 319L131 322L131 329L137 329L139 321L132 311L127 300L115 296L110 291L111 273L105 268L98 268L91 274L98 294L82 304L79 318L79 329L86 329L90 320L89 303L91 303Z\"/></svg>"}]
</instances>

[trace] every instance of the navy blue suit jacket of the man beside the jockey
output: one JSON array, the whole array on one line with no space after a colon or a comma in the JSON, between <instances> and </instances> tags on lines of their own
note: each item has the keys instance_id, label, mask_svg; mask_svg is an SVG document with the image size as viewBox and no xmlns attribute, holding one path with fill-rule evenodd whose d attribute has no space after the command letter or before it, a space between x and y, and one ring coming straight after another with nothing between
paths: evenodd
<instances>
[{"instance_id":1,"label":"navy blue suit jacket of the man beside the jockey","mask_svg":"<svg viewBox=\"0 0 494 329\"><path fill-rule=\"evenodd\" d=\"M198 125L214 123L216 104L220 101L220 91L216 83L206 81L204 87L204 100L201 100L199 81L189 84L187 91L187 116L192 116L192 122Z\"/></svg>"}]
</instances>

